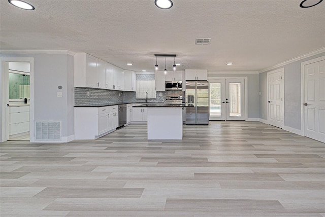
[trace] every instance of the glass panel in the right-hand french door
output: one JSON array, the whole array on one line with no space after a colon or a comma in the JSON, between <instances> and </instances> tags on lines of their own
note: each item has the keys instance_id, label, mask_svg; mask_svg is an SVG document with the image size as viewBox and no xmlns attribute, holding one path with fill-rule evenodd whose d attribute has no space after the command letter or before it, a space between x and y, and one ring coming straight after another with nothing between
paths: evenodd
<instances>
[{"instance_id":1,"label":"glass panel in the right-hand french door","mask_svg":"<svg viewBox=\"0 0 325 217\"><path fill-rule=\"evenodd\" d=\"M229 116L240 117L241 116L241 83L229 84Z\"/></svg>"}]
</instances>

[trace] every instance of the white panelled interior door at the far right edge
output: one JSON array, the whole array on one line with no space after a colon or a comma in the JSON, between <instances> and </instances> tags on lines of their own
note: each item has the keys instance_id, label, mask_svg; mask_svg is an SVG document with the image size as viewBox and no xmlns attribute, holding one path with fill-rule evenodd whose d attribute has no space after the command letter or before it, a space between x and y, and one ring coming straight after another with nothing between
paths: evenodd
<instances>
[{"instance_id":1,"label":"white panelled interior door at the far right edge","mask_svg":"<svg viewBox=\"0 0 325 217\"><path fill-rule=\"evenodd\" d=\"M304 67L305 136L325 142L325 60Z\"/></svg>"}]
</instances>

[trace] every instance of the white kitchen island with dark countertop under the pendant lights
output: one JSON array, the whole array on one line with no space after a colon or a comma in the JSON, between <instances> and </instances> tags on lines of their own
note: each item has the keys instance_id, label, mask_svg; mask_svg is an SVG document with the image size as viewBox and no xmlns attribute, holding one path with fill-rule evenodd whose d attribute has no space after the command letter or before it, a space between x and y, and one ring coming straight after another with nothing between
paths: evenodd
<instances>
[{"instance_id":1,"label":"white kitchen island with dark countertop under the pendant lights","mask_svg":"<svg viewBox=\"0 0 325 217\"><path fill-rule=\"evenodd\" d=\"M134 107L148 108L148 139L182 139L185 105L145 104Z\"/></svg>"}]
</instances>

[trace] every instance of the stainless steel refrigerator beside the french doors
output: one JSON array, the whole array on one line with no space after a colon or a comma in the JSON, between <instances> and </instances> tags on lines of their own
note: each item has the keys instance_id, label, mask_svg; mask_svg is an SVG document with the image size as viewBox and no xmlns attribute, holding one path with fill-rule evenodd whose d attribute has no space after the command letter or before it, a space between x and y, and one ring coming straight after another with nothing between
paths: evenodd
<instances>
[{"instance_id":1,"label":"stainless steel refrigerator beside the french doors","mask_svg":"<svg viewBox=\"0 0 325 217\"><path fill-rule=\"evenodd\" d=\"M186 125L209 124L209 82L186 81Z\"/></svg>"}]
</instances>

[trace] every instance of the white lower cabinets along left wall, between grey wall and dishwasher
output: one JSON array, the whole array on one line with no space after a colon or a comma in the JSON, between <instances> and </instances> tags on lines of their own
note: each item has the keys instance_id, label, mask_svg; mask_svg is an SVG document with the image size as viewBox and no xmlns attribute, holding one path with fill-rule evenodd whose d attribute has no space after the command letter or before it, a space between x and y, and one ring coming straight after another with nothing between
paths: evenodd
<instances>
[{"instance_id":1,"label":"white lower cabinets along left wall, between grey wall and dishwasher","mask_svg":"<svg viewBox=\"0 0 325 217\"><path fill-rule=\"evenodd\" d=\"M118 105L75 107L75 138L96 139L118 127Z\"/></svg>"}]
</instances>

